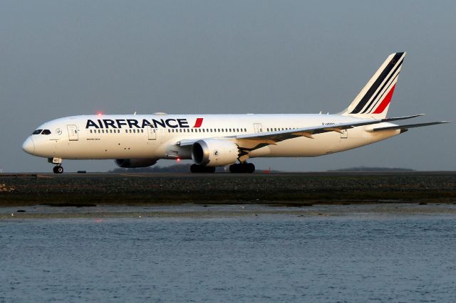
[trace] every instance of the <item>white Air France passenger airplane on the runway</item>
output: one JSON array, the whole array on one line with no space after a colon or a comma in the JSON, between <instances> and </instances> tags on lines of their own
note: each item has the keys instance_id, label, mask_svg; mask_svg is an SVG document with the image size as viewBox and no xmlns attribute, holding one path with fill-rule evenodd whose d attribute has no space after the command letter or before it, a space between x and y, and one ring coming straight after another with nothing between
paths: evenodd
<instances>
[{"instance_id":1,"label":"white Air France passenger airplane on the runway","mask_svg":"<svg viewBox=\"0 0 456 303\"><path fill-rule=\"evenodd\" d=\"M335 115L79 115L39 126L22 149L47 158L63 173L63 159L114 159L125 168L154 165L159 159L191 159L193 173L252 173L248 159L322 156L355 149L414 127L447 121L398 125L421 115L390 117L398 75L406 53L380 65L348 107Z\"/></svg>"}]
</instances>

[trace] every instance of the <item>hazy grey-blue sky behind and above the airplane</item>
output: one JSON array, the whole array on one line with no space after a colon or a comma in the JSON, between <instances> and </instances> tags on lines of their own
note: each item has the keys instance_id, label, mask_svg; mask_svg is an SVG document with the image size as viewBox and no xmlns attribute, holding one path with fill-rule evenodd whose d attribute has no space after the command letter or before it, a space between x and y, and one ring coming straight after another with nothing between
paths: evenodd
<instances>
[{"instance_id":1,"label":"hazy grey-blue sky behind and above the airplane","mask_svg":"<svg viewBox=\"0 0 456 303\"><path fill-rule=\"evenodd\" d=\"M0 170L51 171L21 144L58 117L340 112L399 51L408 55L388 116L455 121L455 16L456 1L0 0ZM283 171L456 170L455 125L328 156L252 162Z\"/></svg>"}]
</instances>

